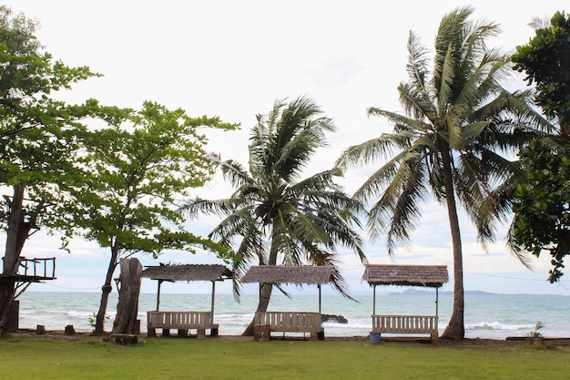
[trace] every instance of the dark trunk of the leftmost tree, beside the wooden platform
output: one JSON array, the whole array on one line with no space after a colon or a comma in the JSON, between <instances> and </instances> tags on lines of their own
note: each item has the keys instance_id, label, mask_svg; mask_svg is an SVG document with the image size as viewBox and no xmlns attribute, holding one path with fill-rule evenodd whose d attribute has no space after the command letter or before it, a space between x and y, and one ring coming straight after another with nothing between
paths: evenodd
<instances>
[{"instance_id":1,"label":"dark trunk of the leftmost tree, beside the wooden platform","mask_svg":"<svg viewBox=\"0 0 570 380\"><path fill-rule=\"evenodd\" d=\"M14 186L14 197L8 201L8 208L10 211L8 217L8 231L6 236L5 255L4 255L4 268L2 273L5 275L15 274L17 272L18 257L22 251L20 226L24 221L24 190L23 186ZM26 234L27 236L27 234ZM7 320L12 303L14 303L15 296L15 281L2 281L0 282L0 338L6 334Z\"/></svg>"}]
</instances>

